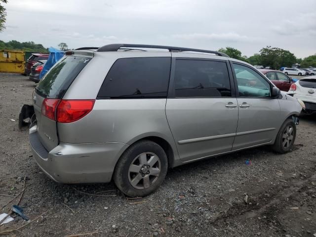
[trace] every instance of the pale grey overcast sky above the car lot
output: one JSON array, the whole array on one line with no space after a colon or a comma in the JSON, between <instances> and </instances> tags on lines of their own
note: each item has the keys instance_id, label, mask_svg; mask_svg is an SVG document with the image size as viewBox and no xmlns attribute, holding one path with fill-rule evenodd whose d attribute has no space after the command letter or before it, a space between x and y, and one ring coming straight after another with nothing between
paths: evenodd
<instances>
[{"instance_id":1,"label":"pale grey overcast sky above the car lot","mask_svg":"<svg viewBox=\"0 0 316 237\"><path fill-rule=\"evenodd\" d=\"M251 56L271 45L316 53L316 0L8 0L0 40L70 48L143 43Z\"/></svg>"}]
</instances>

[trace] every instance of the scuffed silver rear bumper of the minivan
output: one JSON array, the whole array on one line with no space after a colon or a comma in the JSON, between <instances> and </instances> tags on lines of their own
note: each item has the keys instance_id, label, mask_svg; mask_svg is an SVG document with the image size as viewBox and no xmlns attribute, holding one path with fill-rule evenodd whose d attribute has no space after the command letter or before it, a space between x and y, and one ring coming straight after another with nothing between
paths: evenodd
<instances>
[{"instance_id":1,"label":"scuffed silver rear bumper of the minivan","mask_svg":"<svg viewBox=\"0 0 316 237\"><path fill-rule=\"evenodd\" d=\"M118 158L128 145L123 143L60 143L48 152L40 142L37 125L30 127L33 156L51 179L60 183L107 183Z\"/></svg>"}]
</instances>

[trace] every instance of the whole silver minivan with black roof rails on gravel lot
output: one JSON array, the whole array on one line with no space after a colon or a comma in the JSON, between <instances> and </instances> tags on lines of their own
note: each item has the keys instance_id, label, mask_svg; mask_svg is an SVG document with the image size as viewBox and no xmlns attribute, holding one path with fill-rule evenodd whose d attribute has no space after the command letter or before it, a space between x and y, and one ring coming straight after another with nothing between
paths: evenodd
<instances>
[{"instance_id":1,"label":"whole silver minivan with black roof rails on gravel lot","mask_svg":"<svg viewBox=\"0 0 316 237\"><path fill-rule=\"evenodd\" d=\"M187 162L262 145L288 152L304 105L224 53L139 44L67 51L33 104L30 143L51 179L113 179L130 197Z\"/></svg>"}]
</instances>

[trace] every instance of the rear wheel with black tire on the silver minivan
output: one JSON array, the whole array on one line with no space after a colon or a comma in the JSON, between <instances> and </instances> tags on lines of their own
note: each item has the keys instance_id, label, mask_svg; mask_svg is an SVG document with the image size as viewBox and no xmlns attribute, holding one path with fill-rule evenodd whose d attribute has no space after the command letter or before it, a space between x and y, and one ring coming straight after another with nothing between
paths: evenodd
<instances>
[{"instance_id":1,"label":"rear wheel with black tire on the silver minivan","mask_svg":"<svg viewBox=\"0 0 316 237\"><path fill-rule=\"evenodd\" d=\"M143 140L131 145L119 158L114 182L123 194L144 197L158 189L167 170L164 150L155 142Z\"/></svg>"}]
</instances>

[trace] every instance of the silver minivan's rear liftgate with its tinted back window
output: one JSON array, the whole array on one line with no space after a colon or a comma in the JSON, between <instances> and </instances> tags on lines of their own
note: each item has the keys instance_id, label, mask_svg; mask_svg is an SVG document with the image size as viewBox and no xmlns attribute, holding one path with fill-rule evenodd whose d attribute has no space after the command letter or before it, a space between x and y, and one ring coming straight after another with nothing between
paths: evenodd
<instances>
[{"instance_id":1,"label":"silver minivan's rear liftgate with its tinted back window","mask_svg":"<svg viewBox=\"0 0 316 237\"><path fill-rule=\"evenodd\" d=\"M92 57L93 54L91 54ZM37 118L37 129L42 145L51 151L58 145L56 121L53 116L48 118L43 102L52 107L57 107L73 80L91 60L84 55L71 55L63 57L40 80L33 93L34 111Z\"/></svg>"}]
</instances>

